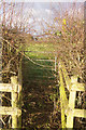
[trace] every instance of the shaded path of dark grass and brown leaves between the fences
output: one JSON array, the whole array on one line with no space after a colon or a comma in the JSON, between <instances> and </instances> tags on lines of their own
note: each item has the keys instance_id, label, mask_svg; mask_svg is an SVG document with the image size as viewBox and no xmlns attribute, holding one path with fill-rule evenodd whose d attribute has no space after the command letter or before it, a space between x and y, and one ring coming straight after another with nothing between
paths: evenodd
<instances>
[{"instance_id":1,"label":"shaded path of dark grass and brown leaves between the fences","mask_svg":"<svg viewBox=\"0 0 86 130\"><path fill-rule=\"evenodd\" d=\"M49 63L51 64L51 63ZM47 128L53 113L53 93L55 77L52 69L44 69L30 61L23 61L24 83L24 126L28 128Z\"/></svg>"}]
</instances>

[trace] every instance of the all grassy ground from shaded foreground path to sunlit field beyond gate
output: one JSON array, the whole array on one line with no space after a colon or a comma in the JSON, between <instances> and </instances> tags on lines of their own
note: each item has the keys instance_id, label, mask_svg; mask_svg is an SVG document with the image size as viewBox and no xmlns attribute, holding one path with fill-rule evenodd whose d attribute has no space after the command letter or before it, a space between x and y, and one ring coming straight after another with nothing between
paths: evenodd
<instances>
[{"instance_id":1,"label":"all grassy ground from shaded foreground path to sunlit field beyond gate","mask_svg":"<svg viewBox=\"0 0 86 130\"><path fill-rule=\"evenodd\" d=\"M54 51L53 44L30 44L28 51ZM32 60L53 60L53 53L34 53L26 52L26 55ZM54 76L54 62L35 61L37 63L48 66L41 67L33 64L31 61L24 57L23 65L23 79L24 79L24 109L27 116L25 120L30 120L29 125L24 123L29 128L35 126L40 128L45 127L49 122L49 115L53 112L53 101L51 94L55 93L55 76ZM52 66L52 67L51 67ZM39 115L39 113L41 113ZM24 115L26 115L24 114ZM30 116L31 115L31 116ZM41 121L42 120L42 121ZM47 128L47 127L46 127Z\"/></svg>"}]
</instances>

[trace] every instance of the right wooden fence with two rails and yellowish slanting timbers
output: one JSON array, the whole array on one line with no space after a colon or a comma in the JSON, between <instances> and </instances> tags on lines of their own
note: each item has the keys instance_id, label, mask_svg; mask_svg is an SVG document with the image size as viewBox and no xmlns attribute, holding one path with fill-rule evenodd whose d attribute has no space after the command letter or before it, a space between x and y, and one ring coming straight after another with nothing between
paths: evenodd
<instances>
[{"instance_id":1,"label":"right wooden fence with two rails and yellowish slanting timbers","mask_svg":"<svg viewBox=\"0 0 86 130\"><path fill-rule=\"evenodd\" d=\"M73 128L74 117L86 118L86 109L75 108L76 91L85 91L85 84L77 82L77 77L73 76L71 79L66 70L64 64L59 63L60 77L60 105L61 105L61 126L62 128ZM66 94L66 89L70 92L69 100ZM67 120L66 120L67 116Z\"/></svg>"}]
</instances>

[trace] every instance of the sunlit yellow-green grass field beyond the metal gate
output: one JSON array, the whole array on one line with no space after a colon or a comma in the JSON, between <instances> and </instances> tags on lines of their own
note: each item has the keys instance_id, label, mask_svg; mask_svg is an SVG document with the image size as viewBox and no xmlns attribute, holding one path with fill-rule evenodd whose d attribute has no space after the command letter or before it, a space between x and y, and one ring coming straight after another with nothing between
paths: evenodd
<instances>
[{"instance_id":1,"label":"sunlit yellow-green grass field beyond the metal gate","mask_svg":"<svg viewBox=\"0 0 86 130\"><path fill-rule=\"evenodd\" d=\"M30 57L34 58L54 58L54 46L52 43L45 44L45 43L35 43L35 44L29 44L29 48L26 49L26 51L35 51L35 52L26 52L26 54ZM41 53L45 52L45 53ZM47 52L47 53L46 53ZM48 53L52 52L52 53Z\"/></svg>"}]
</instances>

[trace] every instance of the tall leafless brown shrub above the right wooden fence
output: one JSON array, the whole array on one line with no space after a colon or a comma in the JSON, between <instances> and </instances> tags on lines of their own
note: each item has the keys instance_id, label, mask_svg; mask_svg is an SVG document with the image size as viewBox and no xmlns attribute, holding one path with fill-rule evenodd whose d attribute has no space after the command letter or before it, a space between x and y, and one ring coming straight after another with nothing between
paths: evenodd
<instances>
[{"instance_id":1,"label":"tall leafless brown shrub above the right wooden fence","mask_svg":"<svg viewBox=\"0 0 86 130\"><path fill-rule=\"evenodd\" d=\"M67 66L69 75L82 77L84 68L84 6L83 3L68 4L61 13L53 9L54 26L57 25L56 35L57 55Z\"/></svg>"}]
</instances>

